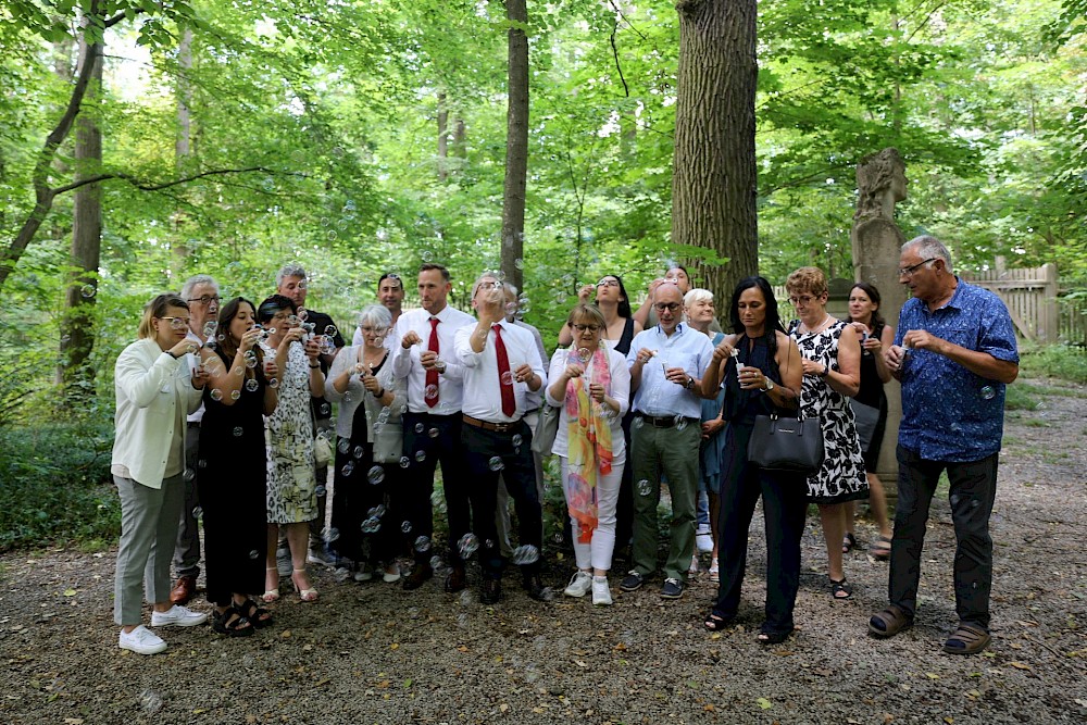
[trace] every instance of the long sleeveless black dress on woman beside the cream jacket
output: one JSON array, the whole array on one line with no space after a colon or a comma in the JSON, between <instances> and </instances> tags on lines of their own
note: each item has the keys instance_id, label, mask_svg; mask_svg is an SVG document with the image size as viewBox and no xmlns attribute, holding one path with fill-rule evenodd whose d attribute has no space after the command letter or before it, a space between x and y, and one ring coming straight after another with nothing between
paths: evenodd
<instances>
[{"instance_id":1,"label":"long sleeveless black dress on woman beside the cream jacket","mask_svg":"<svg viewBox=\"0 0 1087 725\"><path fill-rule=\"evenodd\" d=\"M233 361L216 352L229 370ZM208 601L218 607L230 603L232 592L264 590L268 529L264 388L258 365L247 371L233 405L213 400L210 386L204 390L197 490L203 507Z\"/></svg>"}]
</instances>

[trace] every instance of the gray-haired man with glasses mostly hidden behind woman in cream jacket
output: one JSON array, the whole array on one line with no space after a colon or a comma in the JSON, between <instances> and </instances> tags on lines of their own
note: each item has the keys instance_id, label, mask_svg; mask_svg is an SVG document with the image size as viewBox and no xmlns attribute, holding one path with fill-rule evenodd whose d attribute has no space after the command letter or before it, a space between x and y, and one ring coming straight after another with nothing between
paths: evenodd
<instances>
[{"instance_id":1,"label":"gray-haired man with glasses mostly hidden behind woman in cream jacket","mask_svg":"<svg viewBox=\"0 0 1087 725\"><path fill-rule=\"evenodd\" d=\"M197 274L185 280L182 286L182 299L189 304L189 329L187 338L202 346L209 337L214 337L215 329L205 327L209 322L218 318L218 284L207 274ZM174 324L175 321L171 321ZM188 355L189 364L195 368L199 363L198 355ZM177 526L177 543L174 546L174 573L177 582L170 591L170 601L175 604L187 604L197 589L197 577L200 576L200 529L193 509L200 505L197 497L197 452L200 450L200 421L203 418L203 403L196 413L188 417L188 430L185 436L185 502L182 505L182 521Z\"/></svg>"}]
</instances>

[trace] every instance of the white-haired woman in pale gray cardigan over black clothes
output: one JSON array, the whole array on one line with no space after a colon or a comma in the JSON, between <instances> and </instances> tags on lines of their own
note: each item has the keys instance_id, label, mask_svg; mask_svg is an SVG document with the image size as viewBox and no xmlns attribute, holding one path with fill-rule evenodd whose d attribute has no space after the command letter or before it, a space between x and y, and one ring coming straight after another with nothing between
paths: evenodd
<instances>
[{"instance_id":1,"label":"white-haired woman in pale gray cardigan over black clothes","mask_svg":"<svg viewBox=\"0 0 1087 725\"><path fill-rule=\"evenodd\" d=\"M400 408L408 401L408 378L393 377L385 347L391 324L387 308L366 305L359 313L362 345L340 350L325 383L325 397L339 403L328 548L353 562L355 582L368 582L375 570L384 582L399 582L398 547L401 537L411 534L410 524L404 530L404 511L397 497L399 462L374 461L378 430L400 425Z\"/></svg>"}]
</instances>

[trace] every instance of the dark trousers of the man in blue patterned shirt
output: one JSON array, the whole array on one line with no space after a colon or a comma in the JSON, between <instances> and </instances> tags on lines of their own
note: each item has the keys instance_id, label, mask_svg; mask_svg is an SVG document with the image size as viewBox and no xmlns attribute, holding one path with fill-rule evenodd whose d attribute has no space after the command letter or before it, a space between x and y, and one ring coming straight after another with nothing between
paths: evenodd
<instances>
[{"instance_id":1,"label":"dark trousers of the man in blue patterned shirt","mask_svg":"<svg viewBox=\"0 0 1087 725\"><path fill-rule=\"evenodd\" d=\"M992 589L992 538L989 514L997 496L997 458L949 463L927 461L917 451L899 446L898 507L890 551L888 593L909 616L917 609L921 550L925 542L928 510L940 474L948 472L949 500L958 548L954 557L954 596L959 620L989 627L989 592Z\"/></svg>"}]
</instances>

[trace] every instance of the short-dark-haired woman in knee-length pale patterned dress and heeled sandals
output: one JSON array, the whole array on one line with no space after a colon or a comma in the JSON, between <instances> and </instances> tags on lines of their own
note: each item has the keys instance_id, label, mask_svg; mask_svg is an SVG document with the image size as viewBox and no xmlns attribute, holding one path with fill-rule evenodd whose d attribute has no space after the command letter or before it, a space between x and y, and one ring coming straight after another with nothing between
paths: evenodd
<instances>
[{"instance_id":1,"label":"short-dark-haired woman in knee-length pale patterned dress and heeled sandals","mask_svg":"<svg viewBox=\"0 0 1087 725\"><path fill-rule=\"evenodd\" d=\"M314 421L310 397L325 391L325 377L317 360L320 349L313 339L305 340L295 301L273 295L257 309L257 321L267 332L260 341L265 359L274 359L278 378L279 402L267 423L267 555L265 559L264 601L279 599L279 571L275 563L279 527L287 528L290 548L291 584L303 602L317 599L305 570L309 522L317 517L317 479L313 470Z\"/></svg>"}]
</instances>

